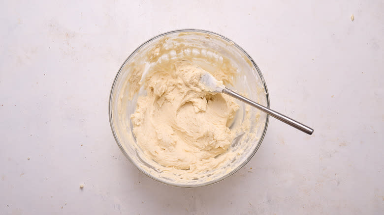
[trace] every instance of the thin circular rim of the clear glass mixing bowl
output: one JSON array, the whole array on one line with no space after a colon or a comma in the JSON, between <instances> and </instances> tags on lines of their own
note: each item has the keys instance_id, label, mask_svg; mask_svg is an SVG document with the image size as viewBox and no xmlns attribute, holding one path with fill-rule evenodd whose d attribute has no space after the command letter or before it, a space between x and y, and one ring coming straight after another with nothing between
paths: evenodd
<instances>
[{"instance_id":1,"label":"thin circular rim of the clear glass mixing bowl","mask_svg":"<svg viewBox=\"0 0 384 215\"><path fill-rule=\"evenodd\" d=\"M258 148L260 147L261 145L261 142L263 141L264 139L264 136L266 134L266 131L267 131L267 128L268 128L268 123L269 123L269 115L267 114L266 116L266 119L265 119L265 125L264 125L264 130L263 130L263 133L261 134L260 138L259 138L259 141L256 145L256 148L254 149L254 151L252 152L252 154L243 162L241 163L238 167L232 169L229 173L227 173L226 175L218 178L218 179L215 179L215 180L212 180L212 181L208 181L208 182L205 182L205 183L202 183L202 184L197 184L197 185L188 185L188 184L178 184L178 183L170 183L170 182L167 182L167 181L163 181L159 178L156 178L154 176L152 176L151 174L147 173L146 171L144 171L144 169L140 168L134 161L131 160L131 158L129 157L129 155L127 154L127 152L124 150L122 144L119 142L118 138L117 138L117 135L115 133L115 130L114 130L114 126L113 126L113 121L112 121L112 92L113 92L113 89L115 87L115 84L116 84L116 81L117 81L117 78L118 76L120 75L120 73L122 72L122 69L124 67L124 65L127 63L127 61L134 55L136 54L136 52L142 48L144 45L146 45L147 43L159 38L159 37L162 37L162 36L165 36L165 35L168 35L168 34L172 34L172 33L180 33L180 32L200 32L200 33L207 33L207 34L213 34L213 35L216 35L216 36L219 36L221 37L222 39L226 40L227 42L231 42L233 43L233 45L238 48L240 51L242 51L247 57L248 59L252 62L252 65L256 68L256 71L258 73L258 75L260 76L261 78L261 81L263 83L263 86L264 86L264 90L266 92L266 99L267 99L267 105L266 107L269 108L269 105L270 105L270 102L269 102L269 93L268 93L268 88L267 88L267 85L266 85L266 82L264 80L264 77L260 71L260 69L258 68L257 64L255 63L255 61L252 59L252 57L243 49L241 48L237 43L235 43L234 41L232 41L231 39L219 34L219 33L216 33L216 32L213 32L213 31L209 31L209 30L203 30L203 29L196 29L196 28L183 28L183 29L176 29L176 30L171 30L171 31L167 31L167 32L164 32L164 33L161 33L157 36L154 36L152 37L151 39L145 41L144 43L142 43L140 46L138 46L131 54L128 55L128 57L126 58L126 60L123 62L123 64L120 66L120 69L118 70L114 80L113 80L113 83L112 83L112 87L111 87L111 91L109 93L109 99L108 99L108 115L109 115L109 125L111 127L111 130L112 130L112 134L113 134L113 137L115 138L115 141L117 143L117 145L119 146L120 150L123 152L123 154L126 156L126 158L133 164L133 166L135 166L138 170L140 170L140 172L144 173L146 176L154 179L155 181L158 181L162 184L165 184L165 185L170 185L170 186L173 186L173 187L180 187L180 188L197 188L197 187L204 187L204 186L208 186L208 185L213 185L213 184L216 184L226 178L228 178L229 176L233 175L234 173L236 173L238 170L240 170L243 166L245 166L253 157L254 155L256 154L256 151L258 150Z\"/></svg>"}]
</instances>

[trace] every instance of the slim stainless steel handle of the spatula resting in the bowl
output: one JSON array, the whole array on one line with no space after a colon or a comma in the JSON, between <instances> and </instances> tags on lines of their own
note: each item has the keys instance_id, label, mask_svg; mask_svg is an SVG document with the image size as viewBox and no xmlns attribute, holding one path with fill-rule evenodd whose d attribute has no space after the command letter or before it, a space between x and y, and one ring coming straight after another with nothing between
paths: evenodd
<instances>
[{"instance_id":1,"label":"slim stainless steel handle of the spatula resting in the bowl","mask_svg":"<svg viewBox=\"0 0 384 215\"><path fill-rule=\"evenodd\" d=\"M263 112L265 112L265 113L275 117L276 119L278 119L278 120L280 120L282 122L287 123L288 125L296 128L296 129L298 129L298 130L300 130L302 132L305 132L305 133L310 134L310 135L313 133L313 129L311 129L310 127L308 127L308 126L306 126L306 125L304 125L302 123L299 123L296 120L293 120L293 119L289 118L288 116L285 116L285 115L283 115L283 114L281 114L279 112L276 112L275 110L271 110L271 109L269 109L267 107L259 105L256 102L254 102L254 101L252 101L250 99L247 99L244 96L241 96L241 95L233 92L232 90L230 90L230 89L228 89L226 87L223 89L223 93L225 93L225 94L227 94L229 96L232 96L232 97L234 97L234 98L236 98L236 99L238 99L240 101L243 101L243 102L247 103L248 105L251 105L251 106L253 106L255 108L258 108L261 111L263 111Z\"/></svg>"}]
</instances>

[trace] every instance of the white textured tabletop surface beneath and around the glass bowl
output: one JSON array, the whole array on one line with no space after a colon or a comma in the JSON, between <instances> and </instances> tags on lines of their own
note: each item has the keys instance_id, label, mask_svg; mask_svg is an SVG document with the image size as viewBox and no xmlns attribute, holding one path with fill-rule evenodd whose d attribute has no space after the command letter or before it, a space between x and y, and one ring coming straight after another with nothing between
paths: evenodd
<instances>
[{"instance_id":1,"label":"white textured tabletop surface beneath and around the glass bowl","mask_svg":"<svg viewBox=\"0 0 384 215\"><path fill-rule=\"evenodd\" d=\"M383 214L382 0L0 5L1 215ZM138 45L177 28L242 46L271 107L315 133L271 119L245 168L209 187L135 169L110 131L110 86Z\"/></svg>"}]
</instances>

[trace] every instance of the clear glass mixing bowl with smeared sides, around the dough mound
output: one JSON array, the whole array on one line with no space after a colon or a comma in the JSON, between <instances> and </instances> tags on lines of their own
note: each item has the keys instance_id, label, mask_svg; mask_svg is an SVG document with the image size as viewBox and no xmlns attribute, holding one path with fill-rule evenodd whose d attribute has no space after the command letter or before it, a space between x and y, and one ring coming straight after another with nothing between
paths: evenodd
<instances>
[{"instance_id":1,"label":"clear glass mixing bowl with smeared sides, around the dough mound","mask_svg":"<svg viewBox=\"0 0 384 215\"><path fill-rule=\"evenodd\" d=\"M161 56L151 55L159 50L162 51ZM236 112L233 124L240 125L247 122L248 132L237 134L234 138L228 149L236 152L233 158L193 178L183 177L184 170L163 171L161 165L147 158L137 145L129 116L135 111L138 96L146 94L144 87L138 86L146 75L145 71L157 61L175 58L178 53L193 55L191 58L193 62L207 71L225 61L234 68L236 74L233 85L228 87L269 108L268 90L264 78L245 50L230 39L211 31L180 29L162 33L143 43L120 67L109 98L109 122L112 133L128 160L150 178L176 187L191 188L214 184L232 175L250 161L264 138L268 115L236 101L240 108ZM206 62L208 58L209 63ZM143 75L135 75L138 68L144 71Z\"/></svg>"}]
</instances>

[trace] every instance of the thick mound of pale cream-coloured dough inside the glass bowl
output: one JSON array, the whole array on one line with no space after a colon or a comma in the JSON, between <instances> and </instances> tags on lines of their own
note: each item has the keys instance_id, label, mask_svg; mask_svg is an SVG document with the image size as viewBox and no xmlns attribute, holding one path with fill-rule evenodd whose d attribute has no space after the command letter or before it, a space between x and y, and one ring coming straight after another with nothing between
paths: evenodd
<instances>
[{"instance_id":1,"label":"thick mound of pale cream-coloured dough inside the glass bowl","mask_svg":"<svg viewBox=\"0 0 384 215\"><path fill-rule=\"evenodd\" d=\"M188 60L170 62L145 78L130 119L137 144L165 167L201 172L216 166L235 137L231 125L239 106L234 99L205 90L206 71ZM208 164L209 163L209 164Z\"/></svg>"}]
</instances>

